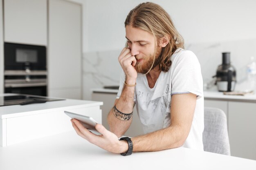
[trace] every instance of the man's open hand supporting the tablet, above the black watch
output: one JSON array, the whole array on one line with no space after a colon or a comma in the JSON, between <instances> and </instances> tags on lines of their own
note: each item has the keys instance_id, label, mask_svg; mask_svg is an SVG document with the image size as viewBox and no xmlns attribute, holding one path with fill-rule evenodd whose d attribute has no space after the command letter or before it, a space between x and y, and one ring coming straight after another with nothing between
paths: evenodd
<instances>
[{"instance_id":1,"label":"man's open hand supporting the tablet, above the black watch","mask_svg":"<svg viewBox=\"0 0 256 170\"><path fill-rule=\"evenodd\" d=\"M127 141L119 141L118 137L108 131L101 124L96 125L96 130L100 132L102 135L95 135L90 132L87 128L83 127L83 125L76 119L71 119L72 126L76 130L76 133L88 140L90 143L99 146L100 148L107 150L113 153L124 153L128 150Z\"/></svg>"}]
</instances>

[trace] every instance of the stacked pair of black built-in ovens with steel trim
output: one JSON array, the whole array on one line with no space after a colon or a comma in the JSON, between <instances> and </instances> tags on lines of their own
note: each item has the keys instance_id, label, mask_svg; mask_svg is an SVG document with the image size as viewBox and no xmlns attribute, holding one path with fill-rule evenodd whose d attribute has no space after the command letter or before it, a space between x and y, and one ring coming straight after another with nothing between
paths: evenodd
<instances>
[{"instance_id":1,"label":"stacked pair of black built-in ovens with steel trim","mask_svg":"<svg viewBox=\"0 0 256 170\"><path fill-rule=\"evenodd\" d=\"M47 96L45 46L4 43L4 93Z\"/></svg>"}]
</instances>

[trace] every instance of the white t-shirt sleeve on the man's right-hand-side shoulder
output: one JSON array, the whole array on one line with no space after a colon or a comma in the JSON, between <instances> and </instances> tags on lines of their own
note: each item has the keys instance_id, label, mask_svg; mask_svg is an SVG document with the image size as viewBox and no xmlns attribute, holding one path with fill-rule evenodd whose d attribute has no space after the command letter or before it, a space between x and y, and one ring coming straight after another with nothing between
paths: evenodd
<instances>
[{"instance_id":1,"label":"white t-shirt sleeve on the man's right-hand-side shoulder","mask_svg":"<svg viewBox=\"0 0 256 170\"><path fill-rule=\"evenodd\" d=\"M192 51L182 51L172 60L171 95L193 93L203 96L200 63Z\"/></svg>"}]
</instances>

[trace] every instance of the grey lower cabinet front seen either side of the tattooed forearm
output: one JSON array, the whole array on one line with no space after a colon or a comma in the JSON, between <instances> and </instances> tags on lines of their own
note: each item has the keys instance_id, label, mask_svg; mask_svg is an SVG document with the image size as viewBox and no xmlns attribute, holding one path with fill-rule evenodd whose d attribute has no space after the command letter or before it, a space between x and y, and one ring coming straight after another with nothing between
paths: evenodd
<instances>
[{"instance_id":1,"label":"grey lower cabinet front seen either side of the tattooed forearm","mask_svg":"<svg viewBox=\"0 0 256 170\"><path fill-rule=\"evenodd\" d=\"M92 93L92 100L93 101L99 101L103 102L103 106L101 106L102 110L102 124L109 130L108 126L108 113L113 108L115 99L117 97L117 94L113 93ZM132 124L130 128L126 131L124 135L129 137L135 137L138 135L143 135L143 129L141 122L138 117L138 113L136 108L133 110L133 117L132 117Z\"/></svg>"}]
</instances>

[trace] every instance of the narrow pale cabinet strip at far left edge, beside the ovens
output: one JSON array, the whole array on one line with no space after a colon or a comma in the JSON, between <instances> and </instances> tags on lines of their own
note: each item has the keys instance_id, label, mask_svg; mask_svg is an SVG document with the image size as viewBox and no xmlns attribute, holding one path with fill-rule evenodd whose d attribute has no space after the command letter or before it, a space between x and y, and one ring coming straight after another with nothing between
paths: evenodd
<instances>
[{"instance_id":1,"label":"narrow pale cabinet strip at far left edge, beside the ovens","mask_svg":"<svg viewBox=\"0 0 256 170\"><path fill-rule=\"evenodd\" d=\"M0 0L0 94L4 93L4 40L3 40L3 8Z\"/></svg>"}]
</instances>

